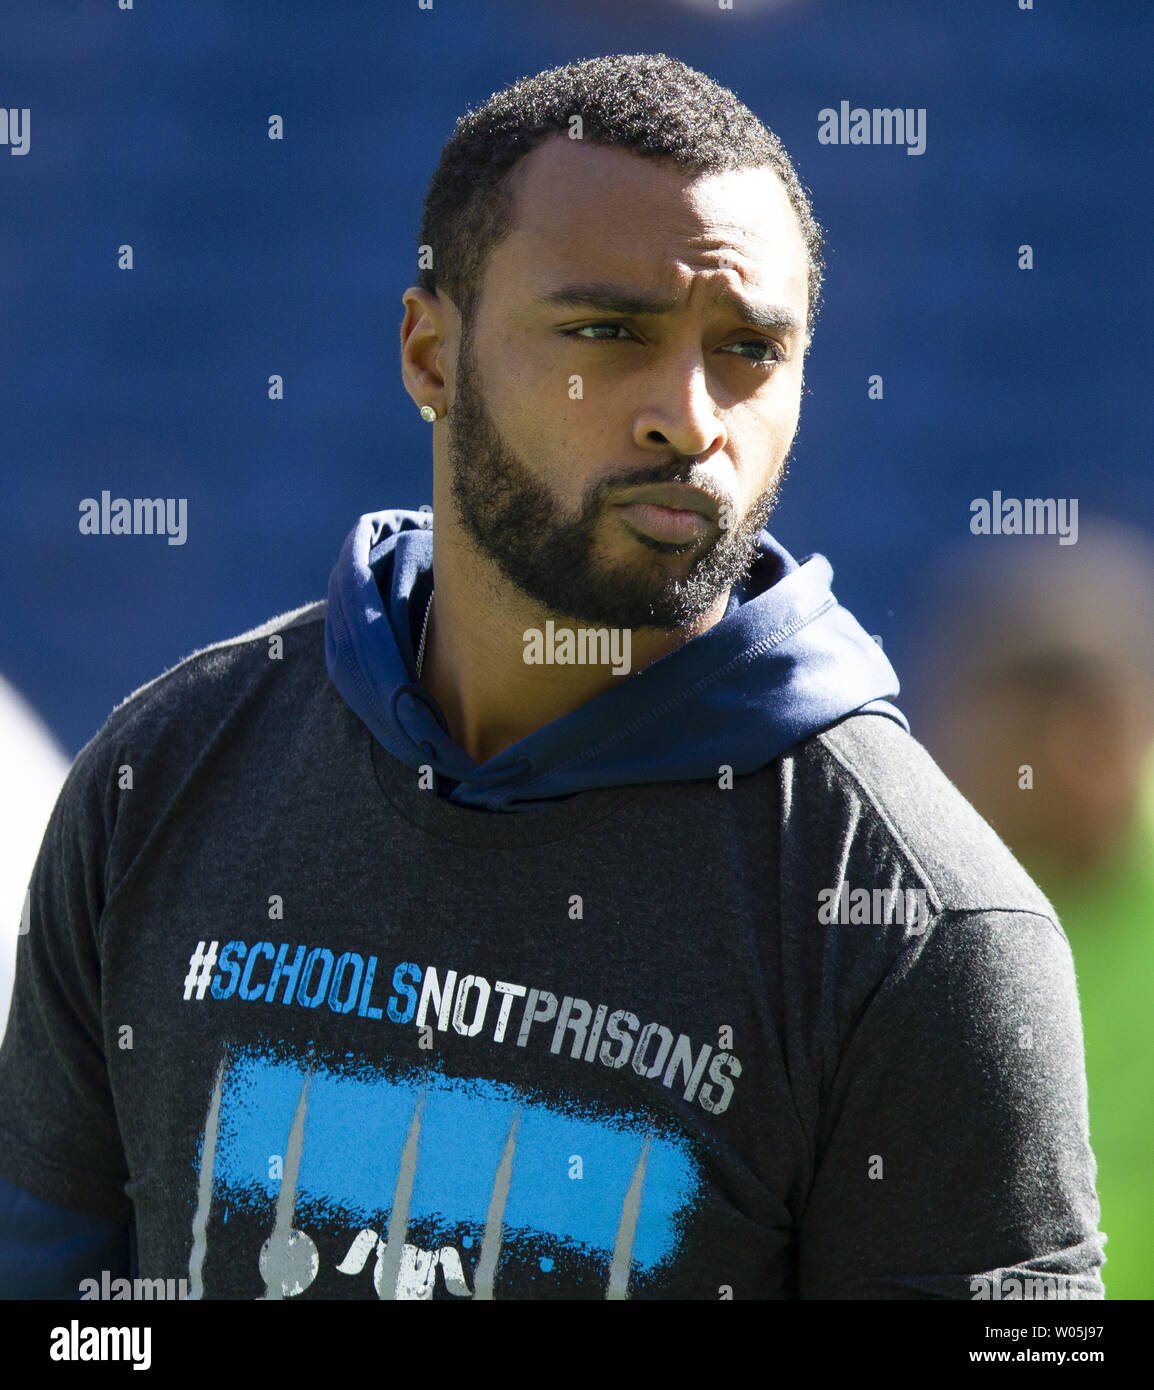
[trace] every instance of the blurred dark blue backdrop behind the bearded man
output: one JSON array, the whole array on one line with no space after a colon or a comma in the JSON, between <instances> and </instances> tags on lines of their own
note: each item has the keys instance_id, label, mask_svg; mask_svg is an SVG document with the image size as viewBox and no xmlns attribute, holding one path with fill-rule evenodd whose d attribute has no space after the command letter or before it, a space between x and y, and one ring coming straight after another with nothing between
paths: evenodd
<instances>
[{"instance_id":1,"label":"blurred dark blue backdrop behind the bearded man","mask_svg":"<svg viewBox=\"0 0 1154 1390\"><path fill-rule=\"evenodd\" d=\"M398 329L441 145L519 76L666 51L812 189L826 307L770 528L902 674L940 555L998 543L973 498L1154 521L1151 26L1144 0L7 4L0 670L71 756L196 646L321 598L360 513L431 502ZM925 154L820 145L843 99L925 107ZM186 543L82 535L103 489L188 498Z\"/></svg>"}]
</instances>

